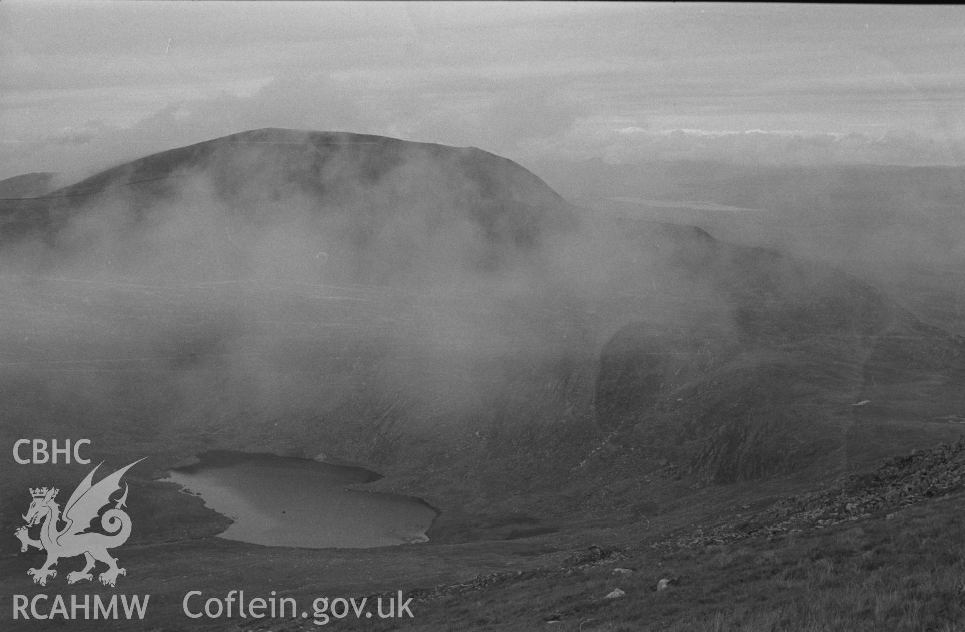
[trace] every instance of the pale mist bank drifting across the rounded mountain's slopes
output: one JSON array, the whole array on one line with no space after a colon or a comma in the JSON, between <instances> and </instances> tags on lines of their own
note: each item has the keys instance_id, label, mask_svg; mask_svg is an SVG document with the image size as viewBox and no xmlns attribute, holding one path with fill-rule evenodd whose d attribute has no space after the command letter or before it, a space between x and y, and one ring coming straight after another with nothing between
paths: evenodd
<instances>
[{"instance_id":1,"label":"pale mist bank drifting across the rounded mountain's slopes","mask_svg":"<svg viewBox=\"0 0 965 632\"><path fill-rule=\"evenodd\" d=\"M534 384L592 384L628 318L727 324L660 243L509 161L367 138L194 146L53 194L57 230L0 250L8 430L222 446L257 426L314 451L303 426L350 398L429 433L512 425Z\"/></svg>"}]
</instances>

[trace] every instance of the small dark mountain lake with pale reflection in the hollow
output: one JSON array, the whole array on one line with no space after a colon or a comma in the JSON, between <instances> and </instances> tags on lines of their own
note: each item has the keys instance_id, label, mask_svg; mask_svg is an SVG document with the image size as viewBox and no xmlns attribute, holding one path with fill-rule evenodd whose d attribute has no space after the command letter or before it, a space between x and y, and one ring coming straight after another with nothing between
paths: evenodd
<instances>
[{"instance_id":1,"label":"small dark mountain lake with pale reflection in the hollow","mask_svg":"<svg viewBox=\"0 0 965 632\"><path fill-rule=\"evenodd\" d=\"M219 537L307 548L425 542L436 512L417 498L345 489L381 477L360 467L274 454L215 451L165 481L234 520Z\"/></svg>"}]
</instances>

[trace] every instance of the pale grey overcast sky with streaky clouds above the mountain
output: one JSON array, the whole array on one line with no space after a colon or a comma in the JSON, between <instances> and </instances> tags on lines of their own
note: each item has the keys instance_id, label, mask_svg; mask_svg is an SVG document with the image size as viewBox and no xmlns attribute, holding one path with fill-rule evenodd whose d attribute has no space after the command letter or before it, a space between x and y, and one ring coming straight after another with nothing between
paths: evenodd
<instances>
[{"instance_id":1,"label":"pale grey overcast sky with streaky clouds above the mountain","mask_svg":"<svg viewBox=\"0 0 965 632\"><path fill-rule=\"evenodd\" d=\"M598 157L965 163L965 9L0 2L0 178L264 126Z\"/></svg>"}]
</instances>

